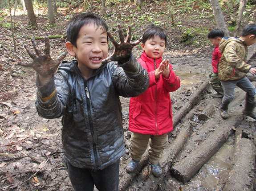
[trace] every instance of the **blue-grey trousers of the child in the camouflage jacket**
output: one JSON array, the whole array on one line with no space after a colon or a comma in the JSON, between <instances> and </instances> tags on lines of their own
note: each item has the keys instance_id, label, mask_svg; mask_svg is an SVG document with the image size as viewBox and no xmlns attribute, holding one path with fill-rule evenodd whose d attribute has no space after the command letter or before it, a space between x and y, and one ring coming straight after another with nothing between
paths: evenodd
<instances>
[{"instance_id":1,"label":"blue-grey trousers of the child in the camouflage jacket","mask_svg":"<svg viewBox=\"0 0 256 191\"><path fill-rule=\"evenodd\" d=\"M253 84L248 80L248 78L244 77L240 80L235 81L221 81L221 85L224 90L224 97L222 98L223 105L227 105L228 107L228 104L233 100L236 86L240 87L246 92L246 104L255 104L254 96L256 94L256 89Z\"/></svg>"}]
</instances>

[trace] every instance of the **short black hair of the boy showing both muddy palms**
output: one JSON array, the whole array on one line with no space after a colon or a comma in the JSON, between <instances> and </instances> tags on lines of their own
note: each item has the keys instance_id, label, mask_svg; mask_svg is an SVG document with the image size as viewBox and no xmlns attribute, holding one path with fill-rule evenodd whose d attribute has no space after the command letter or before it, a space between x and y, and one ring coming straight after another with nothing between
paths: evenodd
<instances>
[{"instance_id":1,"label":"short black hair of the boy showing both muddy palms","mask_svg":"<svg viewBox=\"0 0 256 191\"><path fill-rule=\"evenodd\" d=\"M97 27L103 27L105 31L108 31L107 24L97 14L93 12L80 13L73 16L67 26L67 41L77 47L77 38L81 27L89 23L94 23Z\"/></svg>"}]
</instances>

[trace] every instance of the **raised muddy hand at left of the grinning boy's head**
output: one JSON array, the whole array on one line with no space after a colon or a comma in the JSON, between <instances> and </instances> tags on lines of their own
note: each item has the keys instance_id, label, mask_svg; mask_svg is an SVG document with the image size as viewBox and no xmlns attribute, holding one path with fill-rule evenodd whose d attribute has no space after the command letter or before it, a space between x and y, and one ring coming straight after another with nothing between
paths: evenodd
<instances>
[{"instance_id":1,"label":"raised muddy hand at left of the grinning boy's head","mask_svg":"<svg viewBox=\"0 0 256 191\"><path fill-rule=\"evenodd\" d=\"M50 43L49 38L45 37L45 53L42 54L37 42L34 38L31 39L31 42L33 43L33 47L35 49L36 55L31 51L31 49L28 47L27 44L24 44L24 47L26 51L28 52L28 55L33 59L33 62L31 63L24 63L19 62L18 64L25 67L32 67L34 70L37 71L38 74L40 74L43 77L49 77L54 74L54 72L57 70L61 60L65 58L67 51L62 53L58 58L53 60L50 56Z\"/></svg>"}]
</instances>

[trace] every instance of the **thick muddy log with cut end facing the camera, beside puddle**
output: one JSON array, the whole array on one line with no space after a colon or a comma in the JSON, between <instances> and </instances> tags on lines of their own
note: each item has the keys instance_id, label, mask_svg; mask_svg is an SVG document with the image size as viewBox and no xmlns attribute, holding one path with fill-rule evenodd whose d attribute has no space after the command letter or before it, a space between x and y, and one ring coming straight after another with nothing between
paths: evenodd
<instances>
[{"instance_id":1,"label":"thick muddy log with cut end facing the camera, beside puddle","mask_svg":"<svg viewBox=\"0 0 256 191\"><path fill-rule=\"evenodd\" d=\"M239 117L232 116L228 121L220 124L207 140L199 144L186 158L171 168L172 175L182 183L189 181L228 140L228 137L233 133L231 127L240 123L240 121Z\"/></svg>"}]
</instances>

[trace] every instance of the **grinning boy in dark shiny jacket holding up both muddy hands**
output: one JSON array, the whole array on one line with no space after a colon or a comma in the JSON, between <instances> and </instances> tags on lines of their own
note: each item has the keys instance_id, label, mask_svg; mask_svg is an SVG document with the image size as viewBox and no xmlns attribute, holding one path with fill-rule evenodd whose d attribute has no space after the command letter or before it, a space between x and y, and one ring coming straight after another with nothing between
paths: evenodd
<instances>
[{"instance_id":1,"label":"grinning boy in dark shiny jacket holding up both muddy hands","mask_svg":"<svg viewBox=\"0 0 256 191\"><path fill-rule=\"evenodd\" d=\"M36 55L25 48L33 63L20 63L38 73L39 115L62 116L65 163L75 191L93 191L94 185L99 191L118 191L119 163L125 153L119 96L135 97L149 86L148 73L131 54L140 40L130 43L130 27L126 39L120 25L118 29L120 43L98 15L79 14L67 27L66 42L76 60L59 66L65 53L50 58L45 38L45 54L32 39ZM109 58L108 37L115 46Z\"/></svg>"}]
</instances>

